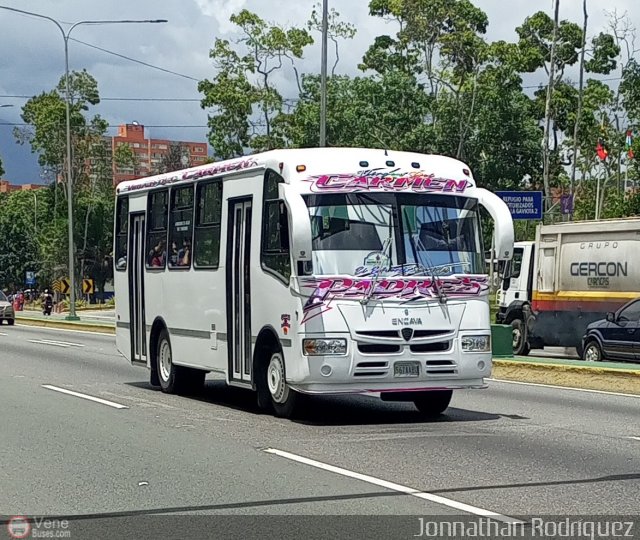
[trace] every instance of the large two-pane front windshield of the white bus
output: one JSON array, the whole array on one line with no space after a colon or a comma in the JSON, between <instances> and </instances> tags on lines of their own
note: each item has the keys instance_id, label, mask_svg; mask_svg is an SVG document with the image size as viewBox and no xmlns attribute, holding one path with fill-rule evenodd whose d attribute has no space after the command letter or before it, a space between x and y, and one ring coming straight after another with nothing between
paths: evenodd
<instances>
[{"instance_id":1,"label":"large two-pane front windshield of the white bus","mask_svg":"<svg viewBox=\"0 0 640 540\"><path fill-rule=\"evenodd\" d=\"M485 273L475 199L369 192L305 200L315 275Z\"/></svg>"}]
</instances>

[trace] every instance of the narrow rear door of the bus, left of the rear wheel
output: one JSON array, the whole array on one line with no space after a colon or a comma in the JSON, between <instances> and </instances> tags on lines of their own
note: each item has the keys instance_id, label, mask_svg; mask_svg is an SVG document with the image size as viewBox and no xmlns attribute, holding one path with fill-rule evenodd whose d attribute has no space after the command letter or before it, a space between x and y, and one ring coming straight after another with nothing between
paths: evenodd
<instances>
[{"instance_id":1,"label":"narrow rear door of the bus, left of the rear wheel","mask_svg":"<svg viewBox=\"0 0 640 540\"><path fill-rule=\"evenodd\" d=\"M144 316L144 234L145 215L131 214L129 227L129 309L131 361L147 363L147 339Z\"/></svg>"}]
</instances>

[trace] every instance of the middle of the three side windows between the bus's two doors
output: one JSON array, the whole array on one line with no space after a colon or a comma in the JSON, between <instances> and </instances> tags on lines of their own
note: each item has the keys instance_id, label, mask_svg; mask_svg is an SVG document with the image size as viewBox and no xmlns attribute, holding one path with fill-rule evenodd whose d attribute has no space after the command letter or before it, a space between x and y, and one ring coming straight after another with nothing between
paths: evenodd
<instances>
[{"instance_id":1,"label":"middle of the three side windows between the bus's two doors","mask_svg":"<svg viewBox=\"0 0 640 540\"><path fill-rule=\"evenodd\" d=\"M193 233L193 186L171 190L169 268L190 268Z\"/></svg>"}]
</instances>

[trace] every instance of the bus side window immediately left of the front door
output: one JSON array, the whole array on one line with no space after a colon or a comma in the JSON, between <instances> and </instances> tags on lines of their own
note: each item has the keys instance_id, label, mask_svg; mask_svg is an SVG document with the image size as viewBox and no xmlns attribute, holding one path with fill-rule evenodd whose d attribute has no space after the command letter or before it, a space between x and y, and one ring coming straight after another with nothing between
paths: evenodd
<instances>
[{"instance_id":1,"label":"bus side window immediately left of the front door","mask_svg":"<svg viewBox=\"0 0 640 540\"><path fill-rule=\"evenodd\" d=\"M216 269L220 264L222 182L201 183L196 191L193 266Z\"/></svg>"}]
</instances>

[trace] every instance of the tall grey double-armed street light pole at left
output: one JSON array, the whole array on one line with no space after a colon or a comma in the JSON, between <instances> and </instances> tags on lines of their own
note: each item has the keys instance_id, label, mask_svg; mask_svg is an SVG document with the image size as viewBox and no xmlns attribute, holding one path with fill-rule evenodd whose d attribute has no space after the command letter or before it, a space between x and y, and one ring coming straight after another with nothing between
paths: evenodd
<instances>
[{"instance_id":1,"label":"tall grey double-armed street light pole at left","mask_svg":"<svg viewBox=\"0 0 640 540\"><path fill-rule=\"evenodd\" d=\"M69 86L69 36L71 32L80 25L100 25L100 24L145 24L145 23L166 23L166 19L143 19L143 20L104 20L104 21L78 21L71 25L66 32L60 23L48 17L47 15L41 15L40 13L33 13L31 11L24 11L22 9L11 8L7 6L0 6L0 9L6 9L8 11L15 11L24 15L31 15L33 17L39 17L51 21L58 27L64 40L64 78L65 78L65 115L66 115L66 136L67 136L67 213L68 213L68 235L69 235L69 315L67 320L79 320L76 315L76 287L75 287L75 242L73 240L73 176L72 176L72 163L71 163L71 89Z\"/></svg>"}]
</instances>

